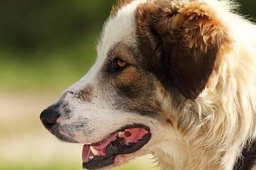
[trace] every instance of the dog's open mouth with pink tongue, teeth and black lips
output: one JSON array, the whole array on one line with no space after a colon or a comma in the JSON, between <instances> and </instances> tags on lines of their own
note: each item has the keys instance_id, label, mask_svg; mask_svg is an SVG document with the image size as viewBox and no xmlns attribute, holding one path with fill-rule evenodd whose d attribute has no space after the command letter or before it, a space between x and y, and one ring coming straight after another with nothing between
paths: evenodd
<instances>
[{"instance_id":1,"label":"dog's open mouth with pink tongue, teeth and black lips","mask_svg":"<svg viewBox=\"0 0 256 170\"><path fill-rule=\"evenodd\" d=\"M82 167L101 169L114 164L118 154L130 154L141 149L151 138L149 128L144 125L129 125L97 143L82 148Z\"/></svg>"}]
</instances>

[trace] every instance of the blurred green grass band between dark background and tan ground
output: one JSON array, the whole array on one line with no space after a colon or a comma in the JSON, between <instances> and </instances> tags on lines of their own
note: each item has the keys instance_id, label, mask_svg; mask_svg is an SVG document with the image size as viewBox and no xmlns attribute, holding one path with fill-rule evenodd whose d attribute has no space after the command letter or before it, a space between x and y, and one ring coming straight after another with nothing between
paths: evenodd
<instances>
[{"instance_id":1,"label":"blurred green grass band between dark background and tan ground","mask_svg":"<svg viewBox=\"0 0 256 170\"><path fill-rule=\"evenodd\" d=\"M95 37L90 36L83 42L56 49L26 53L0 50L0 87L21 90L63 89L73 84L95 61Z\"/></svg>"}]
</instances>

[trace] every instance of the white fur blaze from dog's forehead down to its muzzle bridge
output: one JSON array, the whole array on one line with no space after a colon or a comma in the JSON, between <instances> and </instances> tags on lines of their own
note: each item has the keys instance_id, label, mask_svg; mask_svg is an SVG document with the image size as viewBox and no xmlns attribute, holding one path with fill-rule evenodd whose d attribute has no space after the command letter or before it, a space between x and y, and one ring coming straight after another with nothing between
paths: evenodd
<instances>
[{"instance_id":1,"label":"white fur blaze from dog's forehead down to its muzzle bridge","mask_svg":"<svg viewBox=\"0 0 256 170\"><path fill-rule=\"evenodd\" d=\"M105 23L102 30L100 41L97 45L97 60L89 72L82 79L70 86L69 90L78 91L83 89L88 83L95 84L97 82L97 74L104 66L108 54L112 48L120 42L132 45L137 43L137 22L135 13L137 6L146 0L135 0L132 3L123 6L117 11L115 16Z\"/></svg>"}]
</instances>

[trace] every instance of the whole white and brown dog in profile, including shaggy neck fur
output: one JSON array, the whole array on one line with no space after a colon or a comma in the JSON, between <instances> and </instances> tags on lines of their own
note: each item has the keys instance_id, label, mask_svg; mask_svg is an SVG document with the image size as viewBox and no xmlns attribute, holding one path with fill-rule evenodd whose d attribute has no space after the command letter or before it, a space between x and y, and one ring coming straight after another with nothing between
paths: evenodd
<instances>
[{"instance_id":1,"label":"whole white and brown dog in profile, including shaggy neck fur","mask_svg":"<svg viewBox=\"0 0 256 170\"><path fill-rule=\"evenodd\" d=\"M95 64L41 113L43 125L83 145L84 169L144 154L162 169L253 169L256 27L236 8L226 0L117 2Z\"/></svg>"}]
</instances>

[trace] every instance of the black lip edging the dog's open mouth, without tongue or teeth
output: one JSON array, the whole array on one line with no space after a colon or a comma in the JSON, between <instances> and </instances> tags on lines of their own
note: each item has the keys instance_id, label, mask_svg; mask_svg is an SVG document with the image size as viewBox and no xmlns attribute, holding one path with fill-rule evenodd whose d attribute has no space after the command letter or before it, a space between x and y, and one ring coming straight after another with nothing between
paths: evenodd
<instances>
[{"instance_id":1,"label":"black lip edging the dog's open mouth, without tongue or teeth","mask_svg":"<svg viewBox=\"0 0 256 170\"><path fill-rule=\"evenodd\" d=\"M149 131L149 128L146 127L145 125L134 124L134 125L124 126L124 128L121 128L116 132L123 131L129 128L144 128L145 130ZM146 143L149 142L150 138L151 138L151 133L149 131L149 133L144 135L144 137L142 137L142 139L139 140L139 142L129 143L129 145L122 145L122 143L121 145L118 145L117 141L112 141L110 142L110 145L107 145L105 157L97 156L94 159L90 160L89 162L83 162L82 168L90 169L90 170L102 169L105 166L114 164L114 158L118 154L131 154L133 152L136 152L137 150L141 149L144 145L146 145ZM119 139L122 140L122 138L119 138Z\"/></svg>"}]
</instances>

